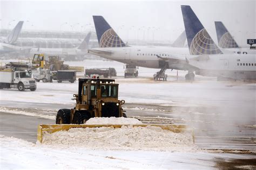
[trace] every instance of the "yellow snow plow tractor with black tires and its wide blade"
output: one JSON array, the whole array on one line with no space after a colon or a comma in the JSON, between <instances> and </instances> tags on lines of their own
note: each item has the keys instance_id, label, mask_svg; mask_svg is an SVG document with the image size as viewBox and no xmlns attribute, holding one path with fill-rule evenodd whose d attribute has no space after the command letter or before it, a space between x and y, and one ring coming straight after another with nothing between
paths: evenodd
<instances>
[{"instance_id":1,"label":"yellow snow plow tractor with black tires and its wide blade","mask_svg":"<svg viewBox=\"0 0 256 170\"><path fill-rule=\"evenodd\" d=\"M78 94L73 94L76 100L74 108L62 108L57 112L55 125L39 125L37 131L37 141L44 143L47 136L58 131L69 131L71 128L95 128L95 127L147 127L156 126L163 130L181 133L187 131L186 125L174 124L85 124L91 118L111 118L125 119L126 114L122 105L124 100L118 99L118 84L114 79L100 78L79 78ZM47 135L46 135L47 134ZM192 134L193 136L193 134Z\"/></svg>"}]
</instances>

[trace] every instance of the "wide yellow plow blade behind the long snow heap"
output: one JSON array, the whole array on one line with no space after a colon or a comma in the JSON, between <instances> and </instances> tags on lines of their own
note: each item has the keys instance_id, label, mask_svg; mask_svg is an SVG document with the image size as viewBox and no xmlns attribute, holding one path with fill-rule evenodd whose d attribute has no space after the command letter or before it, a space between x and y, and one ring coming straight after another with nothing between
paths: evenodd
<instances>
[{"instance_id":1,"label":"wide yellow plow blade behind the long snow heap","mask_svg":"<svg viewBox=\"0 0 256 170\"><path fill-rule=\"evenodd\" d=\"M190 132L192 133L192 138L194 142L194 130L186 128L186 125L174 125L174 124L142 124L142 125L76 125L76 124L53 124L53 125L38 125L37 129L37 141L43 141L44 133L54 133L58 131L68 131L70 128L93 128L93 127L113 127L113 128L121 128L122 126L129 126L129 127L146 127L146 126L157 126L162 128L163 130L172 131L174 133L182 133L182 132Z\"/></svg>"}]
</instances>

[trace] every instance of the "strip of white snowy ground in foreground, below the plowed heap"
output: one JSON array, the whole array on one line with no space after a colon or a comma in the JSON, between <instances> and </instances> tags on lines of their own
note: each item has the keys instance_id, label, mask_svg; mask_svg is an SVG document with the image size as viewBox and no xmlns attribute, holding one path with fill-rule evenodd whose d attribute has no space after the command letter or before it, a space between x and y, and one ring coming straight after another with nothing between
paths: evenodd
<instances>
[{"instance_id":1,"label":"strip of white snowy ground in foreground, below the plowed heap","mask_svg":"<svg viewBox=\"0 0 256 170\"><path fill-rule=\"evenodd\" d=\"M1 136L1 169L215 169L253 168L255 155L155 151L102 151L81 147L36 145ZM246 164L236 164L243 159ZM251 163L248 163L248 161ZM246 165L246 166L245 166ZM255 165L254 165L255 167Z\"/></svg>"}]
</instances>

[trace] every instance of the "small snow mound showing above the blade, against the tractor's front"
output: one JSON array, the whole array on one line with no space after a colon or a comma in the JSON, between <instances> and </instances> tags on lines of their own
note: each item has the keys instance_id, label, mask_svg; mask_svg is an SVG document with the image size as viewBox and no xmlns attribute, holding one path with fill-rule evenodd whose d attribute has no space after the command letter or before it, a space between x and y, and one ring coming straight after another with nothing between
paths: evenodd
<instances>
[{"instance_id":1,"label":"small snow mound showing above the blade, against the tractor's front","mask_svg":"<svg viewBox=\"0 0 256 170\"><path fill-rule=\"evenodd\" d=\"M86 125L141 125L141 121L135 118L91 118L86 121Z\"/></svg>"}]
</instances>

